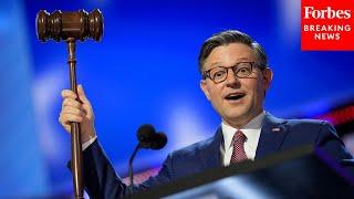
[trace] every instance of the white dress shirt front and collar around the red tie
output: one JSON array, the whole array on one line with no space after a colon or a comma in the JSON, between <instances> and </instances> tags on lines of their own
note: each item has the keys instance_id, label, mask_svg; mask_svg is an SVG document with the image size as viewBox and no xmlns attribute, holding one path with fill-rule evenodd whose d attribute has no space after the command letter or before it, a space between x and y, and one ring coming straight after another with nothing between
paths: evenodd
<instances>
[{"instance_id":1,"label":"white dress shirt front and collar around the red tie","mask_svg":"<svg viewBox=\"0 0 354 199\"><path fill-rule=\"evenodd\" d=\"M264 115L266 113L262 112L261 114L252 118L241 129L239 129L247 137L244 142L244 151L248 159L254 160ZM223 143L220 146L221 163L223 164L223 166L228 166L230 165L231 155L233 150L232 137L238 129L225 124L223 122L221 123L221 129L223 135Z\"/></svg>"}]
</instances>

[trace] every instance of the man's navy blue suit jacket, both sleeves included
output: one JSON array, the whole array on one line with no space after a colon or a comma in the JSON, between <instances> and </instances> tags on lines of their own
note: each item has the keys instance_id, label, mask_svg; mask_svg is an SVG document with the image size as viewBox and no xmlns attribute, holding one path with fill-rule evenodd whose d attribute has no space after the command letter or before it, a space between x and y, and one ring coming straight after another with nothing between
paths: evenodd
<instances>
[{"instance_id":1,"label":"man's navy blue suit jacket, both sleeves included","mask_svg":"<svg viewBox=\"0 0 354 199\"><path fill-rule=\"evenodd\" d=\"M180 177L221 167L221 142L223 138L219 128L211 138L170 153L157 176L137 186L126 186L115 174L96 140L83 153L85 189L91 198L119 198ZM282 119L267 113L256 159L305 144L321 148L354 176L352 156L346 151L334 127L321 121Z\"/></svg>"}]
</instances>

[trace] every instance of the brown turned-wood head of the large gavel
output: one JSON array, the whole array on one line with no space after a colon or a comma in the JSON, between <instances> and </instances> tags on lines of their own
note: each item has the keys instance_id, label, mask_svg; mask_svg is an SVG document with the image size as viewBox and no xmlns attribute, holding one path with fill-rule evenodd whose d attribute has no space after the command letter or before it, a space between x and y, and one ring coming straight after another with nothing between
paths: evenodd
<instances>
[{"instance_id":1,"label":"brown turned-wood head of the large gavel","mask_svg":"<svg viewBox=\"0 0 354 199\"><path fill-rule=\"evenodd\" d=\"M87 13L85 10L77 12L61 12L55 10L52 13L41 10L35 19L37 36L42 42L49 39L55 41L73 38L84 41L93 39L100 41L103 34L103 17L98 9Z\"/></svg>"}]
</instances>

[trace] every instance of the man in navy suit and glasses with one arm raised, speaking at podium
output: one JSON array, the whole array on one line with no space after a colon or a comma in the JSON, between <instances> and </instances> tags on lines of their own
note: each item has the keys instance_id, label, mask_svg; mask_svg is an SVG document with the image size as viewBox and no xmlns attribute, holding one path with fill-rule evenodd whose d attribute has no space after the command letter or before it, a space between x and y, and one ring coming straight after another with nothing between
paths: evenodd
<instances>
[{"instance_id":1,"label":"man in navy suit and glasses with one arm raised, speaking at podium","mask_svg":"<svg viewBox=\"0 0 354 199\"><path fill-rule=\"evenodd\" d=\"M70 132L70 123L82 127L84 182L93 198L116 198L136 190L166 184L177 178L246 159L310 144L347 167L352 156L332 125L321 121L281 119L263 109L273 73L264 50L249 35L225 31L209 38L201 46L200 87L221 117L214 137L173 151L159 174L138 186L126 186L116 176L95 134L94 116L82 86L76 95L64 90L60 123Z\"/></svg>"}]
</instances>

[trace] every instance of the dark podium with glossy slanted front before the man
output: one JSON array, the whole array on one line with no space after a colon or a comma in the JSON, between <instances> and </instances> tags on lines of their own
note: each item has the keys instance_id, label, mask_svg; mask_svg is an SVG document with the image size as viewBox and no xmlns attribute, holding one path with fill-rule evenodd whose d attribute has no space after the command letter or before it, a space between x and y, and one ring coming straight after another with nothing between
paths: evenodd
<instances>
[{"instance_id":1,"label":"dark podium with glossy slanted front before the man","mask_svg":"<svg viewBox=\"0 0 354 199\"><path fill-rule=\"evenodd\" d=\"M206 170L132 198L354 198L354 178L312 146Z\"/></svg>"}]
</instances>

